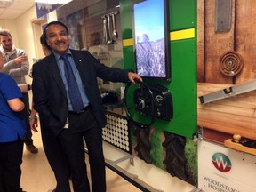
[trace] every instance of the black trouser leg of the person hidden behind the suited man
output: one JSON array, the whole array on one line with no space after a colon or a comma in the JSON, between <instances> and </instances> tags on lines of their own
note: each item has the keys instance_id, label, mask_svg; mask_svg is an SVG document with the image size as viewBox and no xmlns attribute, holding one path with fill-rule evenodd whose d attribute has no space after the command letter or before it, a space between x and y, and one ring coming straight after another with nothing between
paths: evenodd
<instances>
[{"instance_id":1,"label":"black trouser leg of the person hidden behind the suited man","mask_svg":"<svg viewBox=\"0 0 256 192\"><path fill-rule=\"evenodd\" d=\"M70 192L69 167L60 141L49 129L41 127L44 152L57 182L56 192Z\"/></svg>"}]
</instances>

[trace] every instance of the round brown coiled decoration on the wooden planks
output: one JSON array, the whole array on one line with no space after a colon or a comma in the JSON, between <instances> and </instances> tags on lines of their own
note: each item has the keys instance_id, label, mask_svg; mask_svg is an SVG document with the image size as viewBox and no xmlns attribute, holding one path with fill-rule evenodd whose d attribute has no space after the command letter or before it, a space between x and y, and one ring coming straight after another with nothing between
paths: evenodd
<instances>
[{"instance_id":1,"label":"round brown coiled decoration on the wooden planks","mask_svg":"<svg viewBox=\"0 0 256 192\"><path fill-rule=\"evenodd\" d=\"M225 76L236 76L244 67L240 54L234 51L225 52L220 57L220 72Z\"/></svg>"}]
</instances>

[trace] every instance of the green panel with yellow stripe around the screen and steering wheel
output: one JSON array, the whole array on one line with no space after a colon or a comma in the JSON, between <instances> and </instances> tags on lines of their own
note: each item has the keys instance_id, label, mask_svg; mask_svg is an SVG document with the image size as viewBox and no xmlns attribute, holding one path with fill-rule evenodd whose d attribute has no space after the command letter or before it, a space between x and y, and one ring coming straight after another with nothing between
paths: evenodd
<instances>
[{"instance_id":1,"label":"green panel with yellow stripe around the screen and steering wheel","mask_svg":"<svg viewBox=\"0 0 256 192\"><path fill-rule=\"evenodd\" d=\"M124 68L135 70L132 4L132 0L120 0ZM173 119L157 119L154 127L192 138L197 130L196 0L169 0L169 16L171 82L145 82L164 85L172 93Z\"/></svg>"}]
</instances>

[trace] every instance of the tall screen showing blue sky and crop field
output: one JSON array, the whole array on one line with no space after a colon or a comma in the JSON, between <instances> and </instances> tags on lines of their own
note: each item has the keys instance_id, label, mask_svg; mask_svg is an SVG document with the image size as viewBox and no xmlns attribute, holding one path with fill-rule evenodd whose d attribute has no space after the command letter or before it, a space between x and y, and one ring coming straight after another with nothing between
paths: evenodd
<instances>
[{"instance_id":1,"label":"tall screen showing blue sky and crop field","mask_svg":"<svg viewBox=\"0 0 256 192\"><path fill-rule=\"evenodd\" d=\"M167 19L166 0L140 0L133 4L136 72L142 77L170 81Z\"/></svg>"}]
</instances>

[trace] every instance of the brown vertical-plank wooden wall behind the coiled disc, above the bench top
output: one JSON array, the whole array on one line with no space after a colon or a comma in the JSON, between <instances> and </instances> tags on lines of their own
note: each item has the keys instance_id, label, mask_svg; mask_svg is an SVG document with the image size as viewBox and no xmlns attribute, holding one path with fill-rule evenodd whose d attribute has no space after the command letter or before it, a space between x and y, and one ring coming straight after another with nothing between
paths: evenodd
<instances>
[{"instance_id":1,"label":"brown vertical-plank wooden wall behind the coiled disc, above the bench top","mask_svg":"<svg viewBox=\"0 0 256 192\"><path fill-rule=\"evenodd\" d=\"M231 28L227 32L215 31L215 0L198 0L198 82L241 84L256 76L255 0L232 0ZM243 60L244 68L236 76L220 73L219 62L223 53L235 51Z\"/></svg>"}]
</instances>

